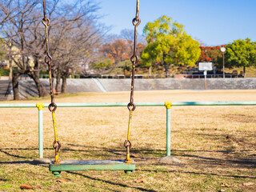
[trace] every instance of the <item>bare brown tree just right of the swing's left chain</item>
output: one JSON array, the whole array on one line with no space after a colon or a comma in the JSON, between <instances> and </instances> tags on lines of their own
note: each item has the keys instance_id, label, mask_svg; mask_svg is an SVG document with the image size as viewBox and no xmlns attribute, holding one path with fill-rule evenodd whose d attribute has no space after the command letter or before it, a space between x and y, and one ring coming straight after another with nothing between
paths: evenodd
<instances>
[{"instance_id":1,"label":"bare brown tree just right of the swing's left chain","mask_svg":"<svg viewBox=\"0 0 256 192\"><path fill-rule=\"evenodd\" d=\"M53 43L56 45L53 50L56 90L60 91L62 77L62 93L66 93L66 78L94 60L94 52L98 50L102 36L108 30L105 26L97 24L98 16L94 13L98 6L91 1L81 2L75 6L64 5L61 10L65 9L69 13L69 19L66 19L66 15L59 17L57 12L58 20L54 21L51 30Z\"/></svg>"}]
</instances>

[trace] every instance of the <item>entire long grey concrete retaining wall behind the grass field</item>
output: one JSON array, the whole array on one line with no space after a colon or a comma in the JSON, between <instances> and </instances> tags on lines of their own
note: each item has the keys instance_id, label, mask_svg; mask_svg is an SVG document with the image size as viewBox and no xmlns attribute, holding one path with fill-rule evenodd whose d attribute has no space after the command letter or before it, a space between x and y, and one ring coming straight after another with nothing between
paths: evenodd
<instances>
[{"instance_id":1,"label":"entire long grey concrete retaining wall behind the grass field","mask_svg":"<svg viewBox=\"0 0 256 192\"><path fill-rule=\"evenodd\" d=\"M0 81L1 82L1 81ZM41 79L49 90L49 79ZM92 78L67 79L67 93L130 91L130 79L98 79L99 84ZM135 79L134 90L204 90L204 79L190 78L150 78ZM21 98L38 96L38 90L33 80L18 82ZM256 78L209 78L207 90L251 90L256 89Z\"/></svg>"}]
</instances>

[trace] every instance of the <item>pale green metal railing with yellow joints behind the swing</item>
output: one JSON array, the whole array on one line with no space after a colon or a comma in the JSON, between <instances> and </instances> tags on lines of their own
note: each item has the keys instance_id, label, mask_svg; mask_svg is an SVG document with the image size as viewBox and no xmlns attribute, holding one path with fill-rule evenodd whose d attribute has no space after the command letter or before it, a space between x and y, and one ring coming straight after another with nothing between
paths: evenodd
<instances>
[{"instance_id":1,"label":"pale green metal railing with yellow joints behind the swing","mask_svg":"<svg viewBox=\"0 0 256 192\"><path fill-rule=\"evenodd\" d=\"M107 107L127 106L126 102L58 103L58 107ZM171 106L256 106L256 102L136 102L136 106L166 106L166 155L170 156L170 108ZM43 158L42 110L49 103L0 103L0 108L38 108L38 150Z\"/></svg>"}]
</instances>

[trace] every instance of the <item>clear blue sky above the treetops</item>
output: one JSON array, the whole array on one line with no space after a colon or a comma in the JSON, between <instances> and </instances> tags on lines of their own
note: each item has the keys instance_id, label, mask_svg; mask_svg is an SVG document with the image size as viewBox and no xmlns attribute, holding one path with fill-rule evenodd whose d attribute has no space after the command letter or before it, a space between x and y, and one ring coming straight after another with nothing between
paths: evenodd
<instances>
[{"instance_id":1,"label":"clear blue sky above the treetops","mask_svg":"<svg viewBox=\"0 0 256 192\"><path fill-rule=\"evenodd\" d=\"M100 22L112 26L110 34L134 29L136 0L95 0L100 2ZM147 22L163 14L185 26L187 34L206 46L217 46L239 38L256 41L256 0L140 0L138 33Z\"/></svg>"}]
</instances>

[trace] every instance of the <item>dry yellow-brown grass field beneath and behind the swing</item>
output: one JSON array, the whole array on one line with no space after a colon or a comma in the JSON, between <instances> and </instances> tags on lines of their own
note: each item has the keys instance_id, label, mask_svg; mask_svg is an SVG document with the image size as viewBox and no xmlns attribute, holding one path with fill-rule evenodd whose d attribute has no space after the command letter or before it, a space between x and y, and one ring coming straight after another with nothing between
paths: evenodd
<instances>
[{"instance_id":1,"label":"dry yellow-brown grass field beneath and behind the swing","mask_svg":"<svg viewBox=\"0 0 256 192\"><path fill-rule=\"evenodd\" d=\"M56 96L55 102L129 102L129 92ZM134 102L256 101L256 90L137 91ZM50 98L18 102L50 102ZM65 172L54 177L38 158L38 110L0 109L0 191L256 191L256 106L173 106L166 154L165 107L137 107L131 129L132 174ZM58 108L62 159L123 159L126 107ZM54 159L51 114L43 110L44 157ZM138 182L142 179L141 182Z\"/></svg>"}]
</instances>

